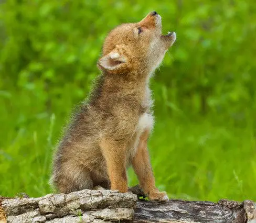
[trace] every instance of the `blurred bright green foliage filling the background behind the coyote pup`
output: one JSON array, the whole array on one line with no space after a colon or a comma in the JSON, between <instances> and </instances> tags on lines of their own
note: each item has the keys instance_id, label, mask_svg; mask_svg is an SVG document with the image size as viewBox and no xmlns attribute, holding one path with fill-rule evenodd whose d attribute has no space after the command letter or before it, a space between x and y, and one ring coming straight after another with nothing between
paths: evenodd
<instances>
[{"instance_id":1,"label":"blurred bright green foliage filling the background behind the coyote pup","mask_svg":"<svg viewBox=\"0 0 256 223\"><path fill-rule=\"evenodd\" d=\"M177 33L152 80L158 186L188 199L256 198L252 0L0 1L0 194L50 192L52 148L100 73L104 37L152 10L164 34Z\"/></svg>"}]
</instances>

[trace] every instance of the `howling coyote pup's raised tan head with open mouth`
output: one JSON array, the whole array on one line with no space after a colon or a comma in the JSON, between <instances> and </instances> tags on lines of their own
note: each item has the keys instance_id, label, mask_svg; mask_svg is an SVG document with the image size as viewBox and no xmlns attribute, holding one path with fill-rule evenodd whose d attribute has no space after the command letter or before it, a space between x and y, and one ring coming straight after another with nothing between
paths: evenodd
<instances>
[{"instance_id":1,"label":"howling coyote pup's raised tan head with open mouth","mask_svg":"<svg viewBox=\"0 0 256 223\"><path fill-rule=\"evenodd\" d=\"M108 73L151 73L175 42L175 32L162 35L162 21L155 11L138 23L113 29L103 44L99 68Z\"/></svg>"}]
</instances>

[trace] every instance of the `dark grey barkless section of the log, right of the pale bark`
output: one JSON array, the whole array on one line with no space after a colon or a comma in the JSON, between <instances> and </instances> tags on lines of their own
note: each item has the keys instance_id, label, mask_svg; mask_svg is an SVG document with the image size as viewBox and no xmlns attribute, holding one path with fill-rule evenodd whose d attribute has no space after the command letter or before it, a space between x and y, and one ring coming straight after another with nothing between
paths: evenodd
<instances>
[{"instance_id":1,"label":"dark grey barkless section of the log, right of the pale bark","mask_svg":"<svg viewBox=\"0 0 256 223\"><path fill-rule=\"evenodd\" d=\"M246 222L243 204L235 208L214 202L169 200L165 204L138 202L134 222Z\"/></svg>"}]
</instances>

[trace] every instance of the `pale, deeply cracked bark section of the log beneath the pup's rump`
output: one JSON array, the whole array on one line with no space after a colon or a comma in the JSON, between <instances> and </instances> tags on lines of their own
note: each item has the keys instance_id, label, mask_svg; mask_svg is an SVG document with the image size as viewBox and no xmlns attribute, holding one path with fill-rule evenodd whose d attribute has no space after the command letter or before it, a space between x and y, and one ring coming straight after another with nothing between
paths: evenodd
<instances>
[{"instance_id":1,"label":"pale, deeply cracked bark section of the log beneath the pup's rump","mask_svg":"<svg viewBox=\"0 0 256 223\"><path fill-rule=\"evenodd\" d=\"M71 218L72 222L81 219L86 222L127 221L133 218L136 201L132 193L84 189L38 198L2 199L1 207L8 222L62 222Z\"/></svg>"}]
</instances>

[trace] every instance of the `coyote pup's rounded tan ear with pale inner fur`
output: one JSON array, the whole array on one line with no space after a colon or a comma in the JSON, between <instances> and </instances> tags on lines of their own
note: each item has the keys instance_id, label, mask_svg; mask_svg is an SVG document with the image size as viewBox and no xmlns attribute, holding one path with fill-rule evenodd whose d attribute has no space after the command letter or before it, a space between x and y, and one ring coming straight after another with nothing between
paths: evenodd
<instances>
[{"instance_id":1,"label":"coyote pup's rounded tan ear with pale inner fur","mask_svg":"<svg viewBox=\"0 0 256 223\"><path fill-rule=\"evenodd\" d=\"M118 50L113 49L109 54L104 55L99 61L98 66L101 70L117 71L126 66L127 59Z\"/></svg>"}]
</instances>

